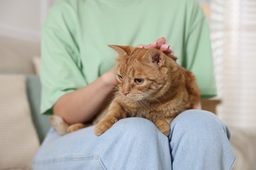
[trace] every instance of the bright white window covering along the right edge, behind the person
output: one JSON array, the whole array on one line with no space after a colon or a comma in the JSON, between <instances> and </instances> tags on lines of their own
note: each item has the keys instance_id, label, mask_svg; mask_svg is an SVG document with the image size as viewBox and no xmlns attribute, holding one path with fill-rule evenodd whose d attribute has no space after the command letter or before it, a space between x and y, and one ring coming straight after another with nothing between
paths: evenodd
<instances>
[{"instance_id":1,"label":"bright white window covering along the right edge, behind the person","mask_svg":"<svg viewBox=\"0 0 256 170\"><path fill-rule=\"evenodd\" d=\"M228 126L256 133L256 1L212 0L209 25L218 99Z\"/></svg>"}]
</instances>

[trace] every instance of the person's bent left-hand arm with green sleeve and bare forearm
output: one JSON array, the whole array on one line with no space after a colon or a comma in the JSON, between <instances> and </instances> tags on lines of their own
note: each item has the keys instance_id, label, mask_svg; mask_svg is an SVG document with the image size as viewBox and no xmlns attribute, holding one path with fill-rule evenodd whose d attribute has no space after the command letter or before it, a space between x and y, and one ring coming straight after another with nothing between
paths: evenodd
<instances>
[{"instance_id":1,"label":"person's bent left-hand arm with green sleeve and bare forearm","mask_svg":"<svg viewBox=\"0 0 256 170\"><path fill-rule=\"evenodd\" d=\"M88 84L72 12L65 3L53 5L41 41L41 113L58 115L68 124L91 120L116 87L114 69Z\"/></svg>"}]
</instances>

